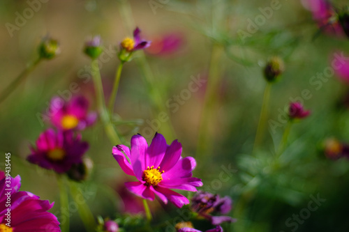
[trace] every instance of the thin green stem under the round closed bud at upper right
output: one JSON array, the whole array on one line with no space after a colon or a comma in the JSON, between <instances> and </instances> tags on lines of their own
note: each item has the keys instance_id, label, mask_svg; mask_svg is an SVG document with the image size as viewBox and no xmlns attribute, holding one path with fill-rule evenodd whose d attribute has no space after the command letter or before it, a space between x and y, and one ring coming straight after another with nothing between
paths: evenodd
<instances>
[{"instance_id":1,"label":"thin green stem under the round closed bud at upper right","mask_svg":"<svg viewBox=\"0 0 349 232\"><path fill-rule=\"evenodd\" d=\"M262 109L260 111L260 120L258 122L257 132L255 134L255 144L253 145L253 151L255 150L255 148L258 148L258 146L260 146L260 143L262 143L262 140L263 140L263 135L265 132L265 124L267 123L268 105L269 105L271 88L272 88L272 84L267 83L267 86L265 86L265 91L263 95Z\"/></svg>"}]
</instances>

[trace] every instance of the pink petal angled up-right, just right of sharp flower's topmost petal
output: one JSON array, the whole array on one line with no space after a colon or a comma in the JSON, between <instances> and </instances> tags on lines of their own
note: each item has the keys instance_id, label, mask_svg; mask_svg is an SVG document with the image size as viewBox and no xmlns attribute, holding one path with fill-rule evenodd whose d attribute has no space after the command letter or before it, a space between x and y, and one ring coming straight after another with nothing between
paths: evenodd
<instances>
[{"instance_id":1,"label":"pink petal angled up-right, just right of sharp flower's topmost petal","mask_svg":"<svg viewBox=\"0 0 349 232\"><path fill-rule=\"evenodd\" d=\"M172 141L172 144L166 149L165 157L161 161L161 170L168 171L177 164L181 157L181 143L176 140Z\"/></svg>"}]
</instances>

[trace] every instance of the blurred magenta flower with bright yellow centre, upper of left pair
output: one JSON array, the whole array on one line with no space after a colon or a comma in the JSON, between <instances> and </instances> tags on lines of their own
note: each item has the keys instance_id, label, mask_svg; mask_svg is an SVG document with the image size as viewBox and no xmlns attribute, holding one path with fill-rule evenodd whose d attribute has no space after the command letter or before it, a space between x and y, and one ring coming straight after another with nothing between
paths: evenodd
<instances>
[{"instance_id":1,"label":"blurred magenta flower with bright yellow centre, upper of left pair","mask_svg":"<svg viewBox=\"0 0 349 232\"><path fill-rule=\"evenodd\" d=\"M69 102L54 97L50 104L50 120L61 130L84 130L97 118L96 112L89 113L88 109L89 101L82 95L73 97Z\"/></svg>"}]
</instances>

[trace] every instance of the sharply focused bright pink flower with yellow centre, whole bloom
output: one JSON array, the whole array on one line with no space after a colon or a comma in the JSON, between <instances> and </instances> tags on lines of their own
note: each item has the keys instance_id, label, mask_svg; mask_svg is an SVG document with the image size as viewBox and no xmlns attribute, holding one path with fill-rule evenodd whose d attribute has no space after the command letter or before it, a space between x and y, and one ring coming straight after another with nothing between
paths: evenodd
<instances>
[{"instance_id":1,"label":"sharply focused bright pink flower with yellow centre, whole bloom","mask_svg":"<svg viewBox=\"0 0 349 232\"><path fill-rule=\"evenodd\" d=\"M138 179L125 183L128 190L143 199L154 201L156 194L164 203L170 201L181 208L189 200L170 189L196 192L196 187L202 186L201 179L192 177L194 158L181 157L181 144L174 140L168 146L162 134L156 133L150 146L140 134L134 135L131 150L117 145L112 154L126 174Z\"/></svg>"}]
</instances>

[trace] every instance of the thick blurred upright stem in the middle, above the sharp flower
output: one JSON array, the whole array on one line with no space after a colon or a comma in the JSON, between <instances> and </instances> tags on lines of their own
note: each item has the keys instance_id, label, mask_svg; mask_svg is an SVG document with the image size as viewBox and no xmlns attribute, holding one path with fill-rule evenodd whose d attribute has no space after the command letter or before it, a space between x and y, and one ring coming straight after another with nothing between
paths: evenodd
<instances>
[{"instance_id":1,"label":"thick blurred upright stem in the middle, above the sharp flower","mask_svg":"<svg viewBox=\"0 0 349 232\"><path fill-rule=\"evenodd\" d=\"M197 157L207 152L209 143L210 125L214 121L214 105L219 83L221 82L220 58L223 49L219 45L213 45L211 52L211 61L209 65L209 79L207 81L207 89L205 93L205 102L202 109L201 121L199 127L198 150Z\"/></svg>"}]
</instances>

